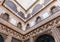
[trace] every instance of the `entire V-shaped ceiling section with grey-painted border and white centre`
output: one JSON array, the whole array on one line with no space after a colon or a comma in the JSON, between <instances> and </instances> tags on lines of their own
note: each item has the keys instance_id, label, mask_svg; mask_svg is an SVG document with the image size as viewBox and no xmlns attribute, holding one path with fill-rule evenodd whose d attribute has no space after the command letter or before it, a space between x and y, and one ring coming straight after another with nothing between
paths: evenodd
<instances>
[{"instance_id":1,"label":"entire V-shaped ceiling section with grey-painted border and white centre","mask_svg":"<svg viewBox=\"0 0 60 42\"><path fill-rule=\"evenodd\" d=\"M27 22L55 0L5 0L3 6Z\"/></svg>"}]
</instances>

